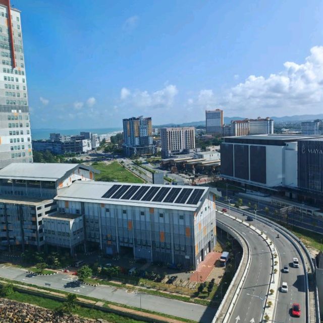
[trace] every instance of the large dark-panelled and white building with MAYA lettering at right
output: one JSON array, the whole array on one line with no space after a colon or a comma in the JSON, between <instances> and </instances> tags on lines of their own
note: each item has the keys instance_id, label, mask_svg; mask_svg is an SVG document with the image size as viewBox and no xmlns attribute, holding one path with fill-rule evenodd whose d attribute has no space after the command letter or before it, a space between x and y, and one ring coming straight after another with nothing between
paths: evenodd
<instances>
[{"instance_id":1,"label":"large dark-panelled and white building with MAYA lettering at right","mask_svg":"<svg viewBox=\"0 0 323 323\"><path fill-rule=\"evenodd\" d=\"M221 176L244 186L323 193L323 137L249 135L221 144Z\"/></svg>"}]
</instances>

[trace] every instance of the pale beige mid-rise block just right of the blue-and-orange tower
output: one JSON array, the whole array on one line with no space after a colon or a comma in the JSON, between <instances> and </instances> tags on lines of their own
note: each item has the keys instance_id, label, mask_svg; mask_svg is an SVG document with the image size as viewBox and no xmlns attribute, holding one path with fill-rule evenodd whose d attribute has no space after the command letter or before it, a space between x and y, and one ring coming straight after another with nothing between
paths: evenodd
<instances>
[{"instance_id":1,"label":"pale beige mid-rise block just right of the blue-and-orange tower","mask_svg":"<svg viewBox=\"0 0 323 323\"><path fill-rule=\"evenodd\" d=\"M190 152L195 149L195 128L161 128L161 156L168 158L173 154Z\"/></svg>"}]
</instances>

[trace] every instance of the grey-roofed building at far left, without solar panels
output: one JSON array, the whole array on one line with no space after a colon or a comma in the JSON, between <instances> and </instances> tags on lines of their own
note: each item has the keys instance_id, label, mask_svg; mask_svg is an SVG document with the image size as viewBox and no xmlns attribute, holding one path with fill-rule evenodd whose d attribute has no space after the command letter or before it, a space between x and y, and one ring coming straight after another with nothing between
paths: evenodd
<instances>
[{"instance_id":1,"label":"grey-roofed building at far left, without solar panels","mask_svg":"<svg viewBox=\"0 0 323 323\"><path fill-rule=\"evenodd\" d=\"M13 163L0 170L0 249L45 244L43 220L57 213L54 197L94 170L79 164Z\"/></svg>"}]
</instances>

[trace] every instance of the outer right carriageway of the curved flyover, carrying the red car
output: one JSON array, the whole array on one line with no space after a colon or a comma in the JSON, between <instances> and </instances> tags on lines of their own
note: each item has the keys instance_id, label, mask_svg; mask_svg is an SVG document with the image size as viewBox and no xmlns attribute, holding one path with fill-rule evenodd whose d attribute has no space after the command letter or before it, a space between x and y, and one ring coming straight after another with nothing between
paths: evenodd
<instances>
[{"instance_id":1,"label":"outer right carriageway of the curved flyover, carrying the red car","mask_svg":"<svg viewBox=\"0 0 323 323\"><path fill-rule=\"evenodd\" d=\"M242 216L241 213L231 210L232 215L241 219L246 220L244 216ZM255 220L252 221L253 225L255 225ZM267 226L263 224L260 221L257 221L256 224L257 228L259 230L262 230L272 241L275 241L278 253L281 258L281 267L285 264L289 266L289 275L286 279L286 275L282 275L280 277L280 287L282 286L283 282L287 282L289 286L289 293L287 296L284 293L279 292L279 298L276 302L277 309L276 309L276 316L275 319L278 321L284 321L286 317L288 319L291 319L293 321L291 315L290 315L290 308L293 303L300 304L301 309L305 309L305 277L302 266L300 268L293 268L292 267L292 260L293 257L300 258L300 255L296 251L295 247L292 245L292 243L283 235L280 235L280 238L275 238L277 236L277 232L273 230L273 227ZM286 279L286 280L284 280ZM282 296L282 302L280 301L280 296ZM288 298L288 301L287 301ZM294 318L295 319L295 318ZM299 318L296 318L298 321L305 321L305 315L302 315L301 320Z\"/></svg>"}]
</instances>

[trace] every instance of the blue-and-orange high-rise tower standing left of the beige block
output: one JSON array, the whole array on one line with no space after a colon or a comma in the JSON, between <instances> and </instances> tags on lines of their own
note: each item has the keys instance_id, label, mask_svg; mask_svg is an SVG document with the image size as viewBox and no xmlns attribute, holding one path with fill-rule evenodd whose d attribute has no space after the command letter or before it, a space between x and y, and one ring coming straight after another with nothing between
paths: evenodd
<instances>
[{"instance_id":1,"label":"blue-and-orange high-rise tower standing left of the beige block","mask_svg":"<svg viewBox=\"0 0 323 323\"><path fill-rule=\"evenodd\" d=\"M153 154L151 118L123 119L123 141L124 154L128 157Z\"/></svg>"}]
</instances>

